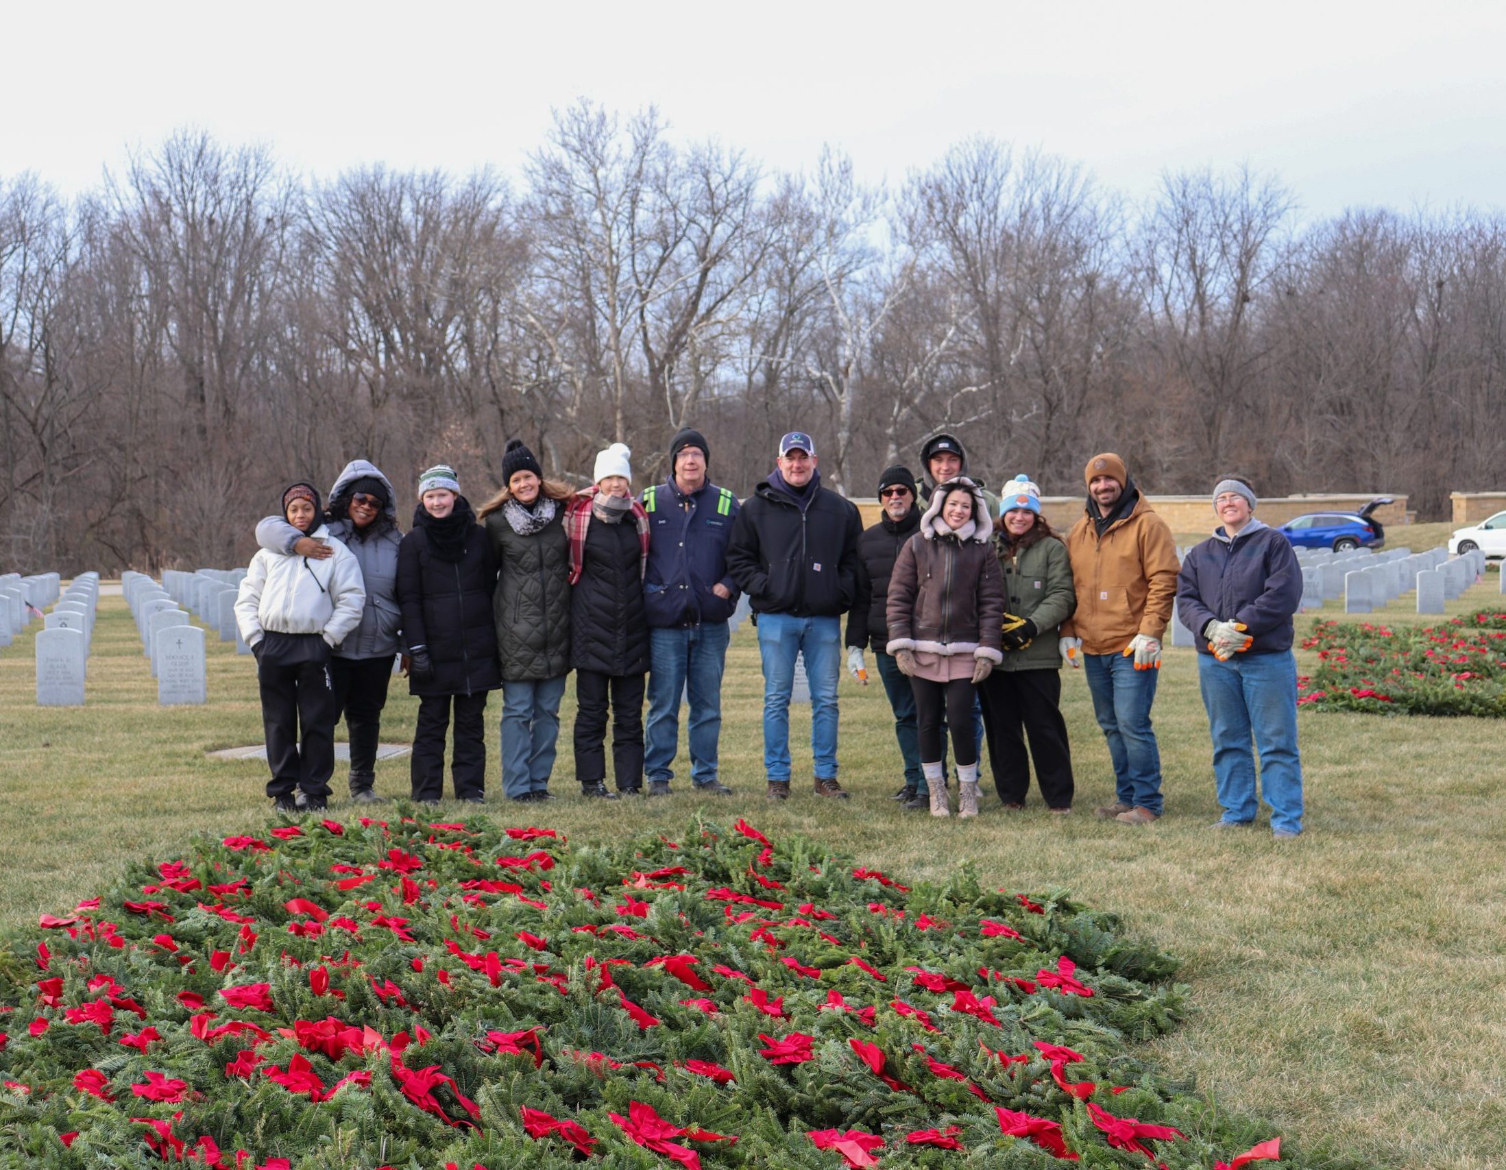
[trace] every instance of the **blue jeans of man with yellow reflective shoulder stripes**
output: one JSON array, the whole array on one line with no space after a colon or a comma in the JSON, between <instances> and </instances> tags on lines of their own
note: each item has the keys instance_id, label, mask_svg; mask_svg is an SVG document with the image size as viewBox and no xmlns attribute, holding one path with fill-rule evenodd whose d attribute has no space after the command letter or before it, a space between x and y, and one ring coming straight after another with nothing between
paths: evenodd
<instances>
[{"instance_id":1,"label":"blue jeans of man with yellow reflective shoulder stripes","mask_svg":"<svg viewBox=\"0 0 1506 1170\"><path fill-rule=\"evenodd\" d=\"M649 726L643 771L649 780L673 780L679 745L679 697L690 694L690 778L697 788L717 783L721 738L721 670L727 663L726 622L688 629L649 631Z\"/></svg>"}]
</instances>

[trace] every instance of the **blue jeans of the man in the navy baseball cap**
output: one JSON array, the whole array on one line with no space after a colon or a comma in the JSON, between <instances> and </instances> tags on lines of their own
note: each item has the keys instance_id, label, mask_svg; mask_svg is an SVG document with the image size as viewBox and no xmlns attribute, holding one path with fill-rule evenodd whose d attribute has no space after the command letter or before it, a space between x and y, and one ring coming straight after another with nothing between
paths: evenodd
<instances>
[{"instance_id":1,"label":"blue jeans of the man in the navy baseball cap","mask_svg":"<svg viewBox=\"0 0 1506 1170\"><path fill-rule=\"evenodd\" d=\"M803 654L810 682L815 778L836 780L842 619L761 613L758 649L764 658L764 775L789 780L789 696L795 687L795 655Z\"/></svg>"}]
</instances>

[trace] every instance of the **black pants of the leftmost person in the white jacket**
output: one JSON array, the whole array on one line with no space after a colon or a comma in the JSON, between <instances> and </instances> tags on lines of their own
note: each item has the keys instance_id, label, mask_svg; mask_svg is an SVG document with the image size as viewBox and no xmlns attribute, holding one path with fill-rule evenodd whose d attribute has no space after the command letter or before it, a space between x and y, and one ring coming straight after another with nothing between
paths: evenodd
<instances>
[{"instance_id":1,"label":"black pants of the leftmost person in the white jacket","mask_svg":"<svg viewBox=\"0 0 1506 1170\"><path fill-rule=\"evenodd\" d=\"M267 795L327 800L334 774L334 687L330 647L318 634L267 631L258 646L256 681L262 693ZM300 747L301 732L301 747Z\"/></svg>"}]
</instances>

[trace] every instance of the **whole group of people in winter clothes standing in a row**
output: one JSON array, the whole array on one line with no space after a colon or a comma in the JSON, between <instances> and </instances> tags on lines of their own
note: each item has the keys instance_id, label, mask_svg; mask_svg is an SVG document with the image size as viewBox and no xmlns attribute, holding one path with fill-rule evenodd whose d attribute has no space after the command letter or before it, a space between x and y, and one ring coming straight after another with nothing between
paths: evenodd
<instances>
[{"instance_id":1,"label":"whole group of people in winter clothes standing in a row","mask_svg":"<svg viewBox=\"0 0 1506 1170\"><path fill-rule=\"evenodd\" d=\"M1256 748L1273 833L1301 833L1292 657L1301 574L1280 532L1254 518L1247 482L1217 483L1221 523L1179 563L1166 523L1110 452L1087 461L1084 513L1065 536L1042 515L1029 476L992 495L950 434L926 440L919 479L902 465L883 473L881 518L866 530L857 507L822 486L806 432L780 440L774 470L742 501L709 480L709 462L705 435L685 428L670 443L666 479L642 494L620 443L574 491L545 479L529 447L511 440L503 486L479 510L453 468L425 471L407 533L392 483L364 459L336 479L327 515L312 483L289 486L282 513L256 529L261 550L236 599L258 660L276 807L325 807L342 714L351 797L383 800L375 756L399 654L419 697L417 801L443 795L452 723L455 797L485 800L483 718L498 688L505 795L553 800L571 672L583 797L669 795L682 702L691 786L727 795L721 678L727 622L745 593L764 669L771 800L791 795L789 703L801 660L813 792L848 797L837 778L845 646L861 685L864 654L875 657L902 759L895 798L905 809L952 815L950 739L958 816L979 812L985 742L1006 810L1026 807L1033 763L1047 807L1069 813L1068 667L1086 675L1114 769L1116 798L1096 813L1146 825L1163 812L1151 708L1175 599L1199 643L1218 825L1256 818Z\"/></svg>"}]
</instances>

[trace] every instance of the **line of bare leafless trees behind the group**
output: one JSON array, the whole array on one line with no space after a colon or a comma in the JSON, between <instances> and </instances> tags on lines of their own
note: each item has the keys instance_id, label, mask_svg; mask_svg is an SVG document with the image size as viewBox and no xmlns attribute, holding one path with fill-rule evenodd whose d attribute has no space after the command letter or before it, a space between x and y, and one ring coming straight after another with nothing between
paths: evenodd
<instances>
[{"instance_id":1,"label":"line of bare leafless trees behind the group","mask_svg":"<svg viewBox=\"0 0 1506 1170\"><path fill-rule=\"evenodd\" d=\"M229 565L291 479L357 455L402 489L495 486L523 437L639 485L694 425L747 492L815 437L869 495L956 432L992 483L1081 489L1111 447L1154 492L1488 488L1506 417L1506 220L1169 173L1143 205L970 139L893 188L828 151L773 173L652 110L559 111L515 181L303 181L181 131L66 200L0 176L0 562Z\"/></svg>"}]
</instances>

